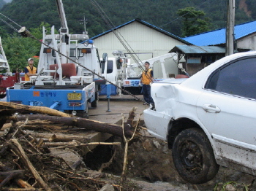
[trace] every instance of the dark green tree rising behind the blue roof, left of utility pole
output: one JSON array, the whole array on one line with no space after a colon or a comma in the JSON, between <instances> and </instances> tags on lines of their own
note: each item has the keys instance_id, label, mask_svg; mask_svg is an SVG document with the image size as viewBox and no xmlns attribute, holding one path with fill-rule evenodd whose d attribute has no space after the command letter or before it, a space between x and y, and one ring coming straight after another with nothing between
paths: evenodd
<instances>
[{"instance_id":1,"label":"dark green tree rising behind the blue roof, left of utility pole","mask_svg":"<svg viewBox=\"0 0 256 191\"><path fill-rule=\"evenodd\" d=\"M181 28L182 36L191 36L210 30L210 18L204 17L203 11L197 11L194 7L178 9L178 15L183 17L183 26Z\"/></svg>"}]
</instances>

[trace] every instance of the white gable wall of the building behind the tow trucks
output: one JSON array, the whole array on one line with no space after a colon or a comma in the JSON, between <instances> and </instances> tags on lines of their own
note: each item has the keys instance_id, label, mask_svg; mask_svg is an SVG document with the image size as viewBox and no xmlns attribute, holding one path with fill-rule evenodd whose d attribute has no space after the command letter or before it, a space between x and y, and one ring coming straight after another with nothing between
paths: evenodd
<instances>
[{"instance_id":1,"label":"white gable wall of the building behind the tow trucks","mask_svg":"<svg viewBox=\"0 0 256 191\"><path fill-rule=\"evenodd\" d=\"M137 53L140 61L165 55L176 45L184 44L137 21L118 28L116 33L130 52ZM108 57L112 57L113 50L128 53L113 31L94 39L94 45L99 50L99 57L102 57L105 52L108 53ZM131 61L131 63L134 63L134 61Z\"/></svg>"}]
</instances>

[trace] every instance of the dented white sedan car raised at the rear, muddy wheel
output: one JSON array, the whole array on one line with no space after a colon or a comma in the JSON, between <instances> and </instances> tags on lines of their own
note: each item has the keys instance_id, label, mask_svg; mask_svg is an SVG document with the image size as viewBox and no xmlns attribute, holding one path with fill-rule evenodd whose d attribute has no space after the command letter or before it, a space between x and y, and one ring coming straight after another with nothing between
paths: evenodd
<instances>
[{"instance_id":1,"label":"dented white sedan car raised at the rear, muddy wheel","mask_svg":"<svg viewBox=\"0 0 256 191\"><path fill-rule=\"evenodd\" d=\"M256 175L256 52L236 53L188 79L151 87L148 132L167 141L178 174L208 182L219 165Z\"/></svg>"}]
</instances>

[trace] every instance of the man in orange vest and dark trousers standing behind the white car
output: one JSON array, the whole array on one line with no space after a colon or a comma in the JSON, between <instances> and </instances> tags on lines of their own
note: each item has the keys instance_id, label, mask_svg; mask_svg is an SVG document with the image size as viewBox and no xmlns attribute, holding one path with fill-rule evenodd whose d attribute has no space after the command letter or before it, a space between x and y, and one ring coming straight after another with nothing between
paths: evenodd
<instances>
[{"instance_id":1,"label":"man in orange vest and dark trousers standing behind the white car","mask_svg":"<svg viewBox=\"0 0 256 191\"><path fill-rule=\"evenodd\" d=\"M140 77L140 83L142 83L142 91L144 98L144 105L152 104L154 106L153 98L151 97L151 84L153 82L153 70L149 69L149 63L146 61L144 63L145 70L142 72Z\"/></svg>"}]
</instances>

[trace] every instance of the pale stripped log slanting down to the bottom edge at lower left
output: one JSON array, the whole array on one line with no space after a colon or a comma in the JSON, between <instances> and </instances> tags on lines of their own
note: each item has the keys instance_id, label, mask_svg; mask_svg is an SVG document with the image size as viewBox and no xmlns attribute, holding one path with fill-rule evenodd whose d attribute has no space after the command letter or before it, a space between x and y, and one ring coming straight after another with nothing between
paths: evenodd
<instances>
[{"instance_id":1,"label":"pale stripped log slanting down to the bottom edge at lower left","mask_svg":"<svg viewBox=\"0 0 256 191\"><path fill-rule=\"evenodd\" d=\"M34 166L31 164L29 158L26 156L26 153L24 152L23 148L19 144L17 139L12 139L12 144L14 147L12 149L15 150L16 154L19 155L23 163L26 165L27 168L31 171L31 174L33 174L34 178L37 179L37 182L46 190L51 191L48 184L45 183L45 181L42 179L42 177L38 174L37 170L34 168Z\"/></svg>"}]
</instances>

